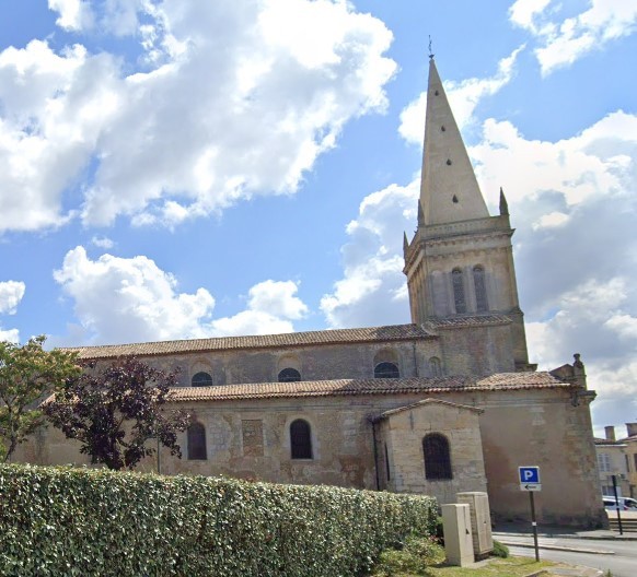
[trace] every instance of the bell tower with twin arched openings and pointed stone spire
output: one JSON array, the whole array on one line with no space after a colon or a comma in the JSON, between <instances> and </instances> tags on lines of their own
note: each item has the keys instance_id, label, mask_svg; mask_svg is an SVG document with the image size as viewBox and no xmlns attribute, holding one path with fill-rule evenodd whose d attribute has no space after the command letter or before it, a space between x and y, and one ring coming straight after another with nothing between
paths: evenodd
<instances>
[{"instance_id":1,"label":"bell tower with twin arched openings and pointed stone spire","mask_svg":"<svg viewBox=\"0 0 637 577\"><path fill-rule=\"evenodd\" d=\"M405 235L412 321L510 321L514 364L529 367L505 193L489 215L433 57L429 61L418 228Z\"/></svg>"}]
</instances>

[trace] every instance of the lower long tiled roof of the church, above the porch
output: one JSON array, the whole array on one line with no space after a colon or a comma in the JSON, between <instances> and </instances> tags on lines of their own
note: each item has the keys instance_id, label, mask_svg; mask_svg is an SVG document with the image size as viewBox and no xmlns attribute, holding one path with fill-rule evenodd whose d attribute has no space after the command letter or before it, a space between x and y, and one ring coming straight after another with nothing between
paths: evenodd
<instances>
[{"instance_id":1,"label":"lower long tiled roof of the church, above the porch","mask_svg":"<svg viewBox=\"0 0 637 577\"><path fill-rule=\"evenodd\" d=\"M300 397L345 397L362 395L442 393L454 391L489 391L520 389L569 389L548 373L506 373L476 380L472 377L399 378L399 379L338 379L300 382L256 382L221 385L217 387L178 387L171 391L171 400L229 401L234 399L271 399ZM524 376L526 378L524 378Z\"/></svg>"}]
</instances>

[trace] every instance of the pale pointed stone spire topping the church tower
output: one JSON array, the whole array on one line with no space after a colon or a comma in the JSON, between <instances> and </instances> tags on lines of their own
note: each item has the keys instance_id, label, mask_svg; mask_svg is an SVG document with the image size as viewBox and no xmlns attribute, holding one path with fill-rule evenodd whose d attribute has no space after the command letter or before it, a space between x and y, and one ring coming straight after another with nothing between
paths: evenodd
<instances>
[{"instance_id":1,"label":"pale pointed stone spire topping the church tower","mask_svg":"<svg viewBox=\"0 0 637 577\"><path fill-rule=\"evenodd\" d=\"M429 59L420 202L425 225L489 216L433 58Z\"/></svg>"}]
</instances>

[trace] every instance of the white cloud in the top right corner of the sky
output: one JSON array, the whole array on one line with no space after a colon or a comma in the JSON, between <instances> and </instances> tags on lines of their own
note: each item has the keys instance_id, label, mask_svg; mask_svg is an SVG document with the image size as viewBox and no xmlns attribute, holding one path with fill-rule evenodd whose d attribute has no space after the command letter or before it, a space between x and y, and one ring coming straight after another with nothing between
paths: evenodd
<instances>
[{"instance_id":1,"label":"white cloud in the top right corner of the sky","mask_svg":"<svg viewBox=\"0 0 637 577\"><path fill-rule=\"evenodd\" d=\"M637 30L637 4L626 0L590 0L588 10L564 17L564 4L551 0L519 0L509 15L540 42L535 55L543 74L572 64L586 54ZM561 20L560 20L561 17Z\"/></svg>"}]
</instances>

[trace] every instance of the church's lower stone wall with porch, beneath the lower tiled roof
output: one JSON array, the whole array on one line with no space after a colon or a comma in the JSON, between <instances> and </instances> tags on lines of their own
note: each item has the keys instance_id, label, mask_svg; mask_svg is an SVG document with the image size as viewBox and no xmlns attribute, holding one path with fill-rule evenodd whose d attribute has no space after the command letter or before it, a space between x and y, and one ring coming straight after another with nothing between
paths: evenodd
<instances>
[{"instance_id":1,"label":"church's lower stone wall with porch, beneath the lower tiled roof","mask_svg":"<svg viewBox=\"0 0 637 577\"><path fill-rule=\"evenodd\" d=\"M430 397L484 409L479 419L487 491L497 519L528 520L529 499L520 491L518 467L540 466L543 483L542 492L536 494L540 522L603 523L590 413L583 400L575 407L569 393L555 389L459 391ZM206 426L208 459L188 460L186 435L182 434L184 458L178 460L162 451L162 472L373 490L377 488L375 462L381 481L384 463L382 451L374 456L370 417L422 398L421 395L382 395L181 403L179 408L192 410ZM312 427L313 459L291 459L289 425L294 419L304 419ZM408 473L404 485L396 490L436 494L425 482L420 486L417 482L418 475L422 475L421 480L425 475L422 455L418 450L426 429L442 428L450 435L452 460L462 462L462 466L453 464L459 479L473 478L474 472L475 479L479 476L479 464L475 462L477 433L475 427L463 424L464 420L450 415L449 411L433 411L427 419L422 417L418 424L421 429L414 433L414 439L410 433L397 434L405 424L398 425L401 420L396 421L398 428L389 437L393 444L390 449ZM255 437L258 432L263 435L262 443ZM49 427L21 446L14 460L86 463L88 458L73 445ZM140 467L141 470L155 468L154 457ZM445 492L439 496L449 498Z\"/></svg>"}]
</instances>

